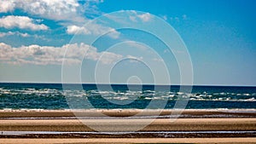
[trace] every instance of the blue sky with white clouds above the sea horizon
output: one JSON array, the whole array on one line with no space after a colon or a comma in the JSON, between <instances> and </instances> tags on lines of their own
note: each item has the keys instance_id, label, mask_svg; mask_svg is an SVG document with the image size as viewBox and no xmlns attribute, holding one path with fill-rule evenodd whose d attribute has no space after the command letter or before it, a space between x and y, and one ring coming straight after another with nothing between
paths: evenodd
<instances>
[{"instance_id":1,"label":"blue sky with white clouds above the sea horizon","mask_svg":"<svg viewBox=\"0 0 256 144\"><path fill-rule=\"evenodd\" d=\"M255 7L0 0L0 82L256 86Z\"/></svg>"}]
</instances>

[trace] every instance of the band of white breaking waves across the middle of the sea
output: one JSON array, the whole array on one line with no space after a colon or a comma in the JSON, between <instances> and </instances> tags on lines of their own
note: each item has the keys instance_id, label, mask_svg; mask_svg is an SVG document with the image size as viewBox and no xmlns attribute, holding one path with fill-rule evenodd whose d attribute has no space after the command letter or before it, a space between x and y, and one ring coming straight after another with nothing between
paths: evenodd
<instances>
[{"instance_id":1,"label":"band of white breaking waves across the middle of the sea","mask_svg":"<svg viewBox=\"0 0 256 144\"><path fill-rule=\"evenodd\" d=\"M168 100L177 101L188 99L189 101L256 101L256 93L207 93L196 92L192 94L182 92L159 92L154 90L143 91L97 91L97 90L61 90L61 89L3 89L0 88L0 96L73 96L73 97L96 97L102 96L107 100Z\"/></svg>"}]
</instances>

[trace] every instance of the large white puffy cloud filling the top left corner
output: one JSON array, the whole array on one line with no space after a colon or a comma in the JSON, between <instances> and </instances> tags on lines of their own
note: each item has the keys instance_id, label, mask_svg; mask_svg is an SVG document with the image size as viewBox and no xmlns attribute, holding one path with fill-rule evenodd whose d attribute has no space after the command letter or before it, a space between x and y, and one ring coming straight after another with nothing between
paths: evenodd
<instances>
[{"instance_id":1,"label":"large white puffy cloud filling the top left corner","mask_svg":"<svg viewBox=\"0 0 256 144\"><path fill-rule=\"evenodd\" d=\"M50 20L82 20L77 0L0 0L0 12L21 9Z\"/></svg>"}]
</instances>

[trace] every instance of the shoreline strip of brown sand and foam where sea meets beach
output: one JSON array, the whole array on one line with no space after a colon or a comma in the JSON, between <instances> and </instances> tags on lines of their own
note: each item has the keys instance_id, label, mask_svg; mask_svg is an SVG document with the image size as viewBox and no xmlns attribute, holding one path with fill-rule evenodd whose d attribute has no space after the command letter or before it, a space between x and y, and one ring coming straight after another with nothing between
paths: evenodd
<instances>
[{"instance_id":1,"label":"shoreline strip of brown sand and foam where sea meets beach","mask_svg":"<svg viewBox=\"0 0 256 144\"><path fill-rule=\"evenodd\" d=\"M89 109L89 110L0 110L8 118L256 118L254 109Z\"/></svg>"}]
</instances>

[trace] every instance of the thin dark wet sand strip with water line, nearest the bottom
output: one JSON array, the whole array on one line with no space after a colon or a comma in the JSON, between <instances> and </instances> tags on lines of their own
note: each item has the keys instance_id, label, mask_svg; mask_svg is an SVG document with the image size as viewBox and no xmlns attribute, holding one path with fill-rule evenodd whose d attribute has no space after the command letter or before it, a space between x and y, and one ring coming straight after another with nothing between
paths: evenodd
<instances>
[{"instance_id":1,"label":"thin dark wet sand strip with water line, nearest the bottom","mask_svg":"<svg viewBox=\"0 0 256 144\"><path fill-rule=\"evenodd\" d=\"M256 137L256 131L32 132L2 131L0 138L211 138Z\"/></svg>"}]
</instances>

